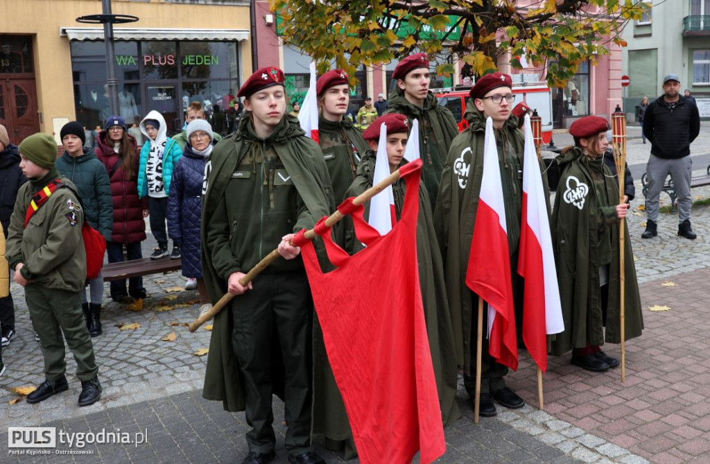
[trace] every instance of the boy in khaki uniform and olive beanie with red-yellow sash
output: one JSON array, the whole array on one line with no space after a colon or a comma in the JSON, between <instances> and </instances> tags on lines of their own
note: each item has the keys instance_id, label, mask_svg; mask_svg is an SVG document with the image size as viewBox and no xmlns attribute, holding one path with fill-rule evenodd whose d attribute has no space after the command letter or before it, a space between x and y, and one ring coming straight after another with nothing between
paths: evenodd
<instances>
[{"instance_id":1,"label":"boy in khaki uniform and olive beanie with red-yellow sash","mask_svg":"<svg viewBox=\"0 0 710 464\"><path fill-rule=\"evenodd\" d=\"M45 382L28 394L35 404L69 389L64 340L77 362L82 382L79 405L101 397L94 347L82 315L86 253L82 240L84 212L75 186L54 166L57 144L48 134L34 134L19 146L20 168L29 182L17 195L10 218L7 259L13 280L25 288L33 328L45 360Z\"/></svg>"}]
</instances>

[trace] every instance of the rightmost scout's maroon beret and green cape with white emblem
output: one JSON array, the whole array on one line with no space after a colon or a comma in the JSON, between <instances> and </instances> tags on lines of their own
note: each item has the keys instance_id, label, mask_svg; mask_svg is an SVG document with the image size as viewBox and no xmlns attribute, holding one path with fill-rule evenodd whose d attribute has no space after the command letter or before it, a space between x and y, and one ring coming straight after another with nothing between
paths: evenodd
<instances>
[{"instance_id":1,"label":"rightmost scout's maroon beret and green cape with white emblem","mask_svg":"<svg viewBox=\"0 0 710 464\"><path fill-rule=\"evenodd\" d=\"M606 132L607 127L606 119L589 116L575 121L569 133L577 141ZM591 158L579 146L564 149L557 163L562 174L552 211L552 244L564 332L552 342L552 354L572 350L572 364L605 371L619 362L605 355L599 345L605 339L609 343L621 342L618 180L603 164L602 153ZM626 222L624 234L624 335L629 340L641 335L643 316Z\"/></svg>"}]
</instances>

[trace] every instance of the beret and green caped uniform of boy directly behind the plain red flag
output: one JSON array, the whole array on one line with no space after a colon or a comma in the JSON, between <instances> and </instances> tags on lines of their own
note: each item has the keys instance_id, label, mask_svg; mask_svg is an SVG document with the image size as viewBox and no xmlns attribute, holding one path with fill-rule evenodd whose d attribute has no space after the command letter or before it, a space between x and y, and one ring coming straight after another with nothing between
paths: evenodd
<instances>
[{"instance_id":1,"label":"beret and green caped uniform of boy directly behind the plain red flag","mask_svg":"<svg viewBox=\"0 0 710 464\"><path fill-rule=\"evenodd\" d=\"M366 140L378 141L380 127L387 126L387 134L408 134L410 126L402 114L387 114L378 117L368 127L363 136ZM358 166L358 174L354 183L348 189L348 195L356 196L372 187L375 171L376 153L368 150L363 161ZM403 161L406 163L406 161ZM404 205L406 185L398 180L392 185L395 212L399 219ZM366 216L368 217L366 205ZM361 248L361 247L360 247ZM429 349L432 354L432 365L439 392L439 406L442 411L444 425L453 423L461 417L461 411L456 402L457 362L454 345L454 329L449 301L444 284L444 267L441 251L437 244L430 207L429 195L424 185L419 188L419 216L417 217L417 260L419 261L419 279L422 288L422 303L429 335Z\"/></svg>"}]
</instances>

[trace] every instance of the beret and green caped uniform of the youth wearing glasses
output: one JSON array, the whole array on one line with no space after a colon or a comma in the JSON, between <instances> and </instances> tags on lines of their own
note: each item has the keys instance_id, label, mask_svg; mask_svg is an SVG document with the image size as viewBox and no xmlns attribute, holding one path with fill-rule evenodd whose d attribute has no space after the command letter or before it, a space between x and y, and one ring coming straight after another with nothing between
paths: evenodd
<instances>
[{"instance_id":1,"label":"beret and green caped uniform of the youth wearing glasses","mask_svg":"<svg viewBox=\"0 0 710 464\"><path fill-rule=\"evenodd\" d=\"M486 115L476 108L474 99L484 97L498 87L511 87L509 75L501 72L481 77L469 94L464 117L469 127L454 139L444 164L442 183L435 210L435 227L442 246L444 273L449 306L452 310L454 336L457 338L459 362L464 365L464 384L474 397L476 373L476 311L478 296L466 286L465 276L471 252L471 237L476 221L481 178L483 177ZM518 130L518 119L509 118L501 129L495 130L496 148L501 163L501 180L508 225L510 269L513 275L515 312L522 313L522 281L518 276L518 242L523 191L523 133ZM486 327L484 311L484 327ZM503 377L508 367L499 364L488 353L484 337L481 350L481 416L495 416L491 396L511 408L525 403L506 387ZM513 396L511 396L512 394ZM486 396L484 396L486 395ZM485 403L490 407L486 409Z\"/></svg>"}]
</instances>

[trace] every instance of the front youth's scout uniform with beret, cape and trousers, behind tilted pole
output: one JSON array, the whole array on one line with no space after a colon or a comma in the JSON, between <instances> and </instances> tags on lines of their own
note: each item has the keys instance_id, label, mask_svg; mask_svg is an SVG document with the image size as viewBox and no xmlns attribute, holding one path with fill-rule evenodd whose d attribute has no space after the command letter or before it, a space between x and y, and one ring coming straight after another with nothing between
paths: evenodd
<instances>
[{"instance_id":1,"label":"front youth's scout uniform with beret, cape and trousers, behind tilted pole","mask_svg":"<svg viewBox=\"0 0 710 464\"><path fill-rule=\"evenodd\" d=\"M283 71L262 68L239 97L274 85ZM334 208L323 155L297 120L281 119L260 139L252 117L217 144L207 165L202 200L202 270L212 303L231 274L246 273L281 237L315 225ZM202 395L228 411L246 411L249 462L273 458L272 393L285 400L290 460L310 453L310 320L313 306L301 257L277 259L214 318ZM283 375L285 374L285 379ZM251 454L250 453L250 454ZM259 457L261 455L261 458ZM246 461L245 461L246 462ZM307 462L321 462L308 460Z\"/></svg>"}]
</instances>

